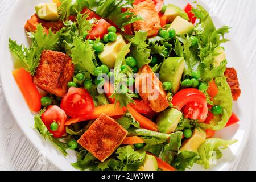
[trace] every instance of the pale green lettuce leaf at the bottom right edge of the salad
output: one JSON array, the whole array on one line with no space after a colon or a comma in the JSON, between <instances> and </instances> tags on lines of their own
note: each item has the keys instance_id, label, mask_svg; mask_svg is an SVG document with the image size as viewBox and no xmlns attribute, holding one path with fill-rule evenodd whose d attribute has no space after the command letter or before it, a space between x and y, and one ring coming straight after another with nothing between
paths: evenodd
<instances>
[{"instance_id":1,"label":"pale green lettuce leaf at the bottom right edge of the salad","mask_svg":"<svg viewBox=\"0 0 256 182\"><path fill-rule=\"evenodd\" d=\"M210 167L210 160L211 159L219 159L222 156L221 149L225 149L228 146L236 143L237 140L223 140L220 138L209 138L205 140L203 144L198 148L198 153L200 156L199 163L204 164L205 169L208 169ZM216 156L213 156L214 153Z\"/></svg>"}]
</instances>

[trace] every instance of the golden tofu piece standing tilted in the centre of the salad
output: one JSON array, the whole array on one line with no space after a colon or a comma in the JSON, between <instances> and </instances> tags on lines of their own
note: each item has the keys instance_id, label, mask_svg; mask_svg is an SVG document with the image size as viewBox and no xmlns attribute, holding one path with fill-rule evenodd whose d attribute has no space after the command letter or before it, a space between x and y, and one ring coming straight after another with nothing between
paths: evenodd
<instances>
[{"instance_id":1,"label":"golden tofu piece standing tilted in the centre of the salad","mask_svg":"<svg viewBox=\"0 0 256 182\"><path fill-rule=\"evenodd\" d=\"M157 113L170 106L166 92L162 88L162 82L159 81L152 69L148 65L144 65L139 69L138 74L139 76L135 78L135 88L148 106Z\"/></svg>"}]
</instances>

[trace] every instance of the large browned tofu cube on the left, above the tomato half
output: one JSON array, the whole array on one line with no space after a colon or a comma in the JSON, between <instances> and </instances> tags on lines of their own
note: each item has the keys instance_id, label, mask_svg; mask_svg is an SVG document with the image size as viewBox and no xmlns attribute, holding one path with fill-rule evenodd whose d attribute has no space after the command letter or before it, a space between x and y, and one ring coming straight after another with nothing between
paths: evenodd
<instances>
[{"instance_id":1,"label":"large browned tofu cube on the left, above the tomato half","mask_svg":"<svg viewBox=\"0 0 256 182\"><path fill-rule=\"evenodd\" d=\"M71 58L62 52L43 51L36 68L33 82L48 93L63 97L68 92L74 65Z\"/></svg>"}]
</instances>

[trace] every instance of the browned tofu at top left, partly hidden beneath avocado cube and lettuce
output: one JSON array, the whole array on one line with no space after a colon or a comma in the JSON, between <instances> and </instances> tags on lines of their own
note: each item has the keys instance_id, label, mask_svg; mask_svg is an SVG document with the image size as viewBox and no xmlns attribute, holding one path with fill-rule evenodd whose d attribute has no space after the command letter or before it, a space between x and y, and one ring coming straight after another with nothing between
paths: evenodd
<instances>
[{"instance_id":1,"label":"browned tofu at top left, partly hidden beneath avocado cube and lettuce","mask_svg":"<svg viewBox=\"0 0 256 182\"><path fill-rule=\"evenodd\" d=\"M31 16L31 18L29 20L27 20L27 22L25 24L25 29L28 32L35 32L36 27L40 23L44 27L44 32L46 32L47 34L48 34L50 28L52 28L53 33L56 33L57 31L60 31L61 28L64 27L64 24L61 20L56 21L56 22L49 22L49 21L45 21L45 20L38 18L38 16L36 14L34 14Z\"/></svg>"}]
</instances>

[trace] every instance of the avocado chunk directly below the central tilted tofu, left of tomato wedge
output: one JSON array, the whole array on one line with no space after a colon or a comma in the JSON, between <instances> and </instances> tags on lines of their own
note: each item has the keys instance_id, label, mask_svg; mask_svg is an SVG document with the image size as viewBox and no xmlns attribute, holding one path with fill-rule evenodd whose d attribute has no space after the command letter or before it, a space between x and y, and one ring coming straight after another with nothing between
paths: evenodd
<instances>
[{"instance_id":1,"label":"avocado chunk directly below the central tilted tofu, left of tomato wedge","mask_svg":"<svg viewBox=\"0 0 256 182\"><path fill-rule=\"evenodd\" d=\"M174 132L181 117L182 113L177 109L171 108L163 111L156 120L159 131L161 133Z\"/></svg>"}]
</instances>

